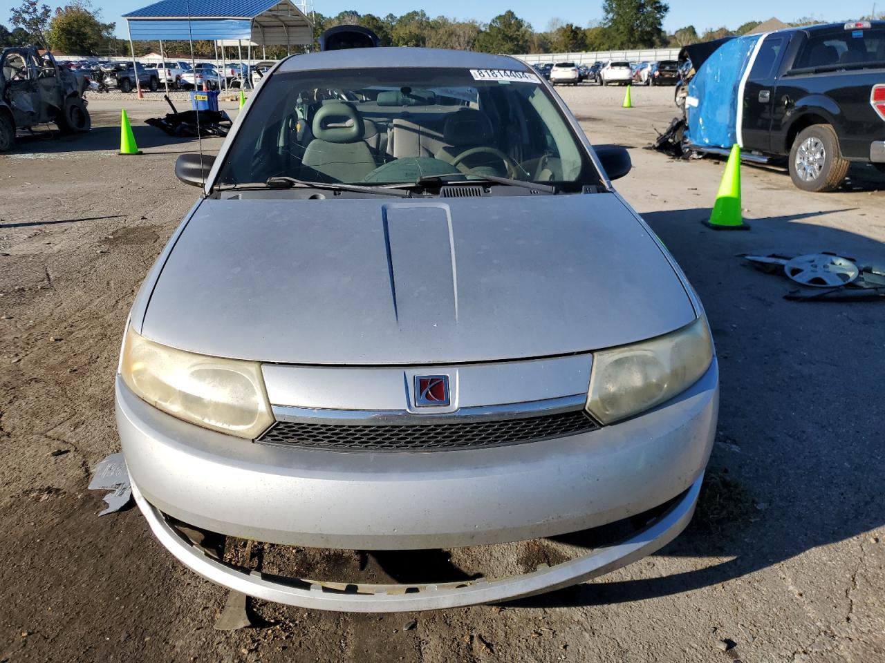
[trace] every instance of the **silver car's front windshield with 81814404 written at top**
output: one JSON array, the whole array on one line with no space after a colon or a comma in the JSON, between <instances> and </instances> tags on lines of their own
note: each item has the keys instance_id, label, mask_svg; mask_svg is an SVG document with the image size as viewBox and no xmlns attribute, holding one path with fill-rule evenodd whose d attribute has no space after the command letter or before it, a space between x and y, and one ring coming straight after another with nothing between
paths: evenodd
<instances>
[{"instance_id":1,"label":"silver car's front windshield with 81814404 written at top","mask_svg":"<svg viewBox=\"0 0 885 663\"><path fill-rule=\"evenodd\" d=\"M535 73L404 67L274 74L218 183L373 186L484 175L563 192L600 182Z\"/></svg>"}]
</instances>

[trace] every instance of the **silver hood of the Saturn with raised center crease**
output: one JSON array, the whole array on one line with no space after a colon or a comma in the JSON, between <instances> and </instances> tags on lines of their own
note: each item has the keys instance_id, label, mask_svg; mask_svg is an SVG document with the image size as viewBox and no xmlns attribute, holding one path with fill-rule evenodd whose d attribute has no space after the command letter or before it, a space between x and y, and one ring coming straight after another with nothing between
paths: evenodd
<instances>
[{"instance_id":1,"label":"silver hood of the Saturn with raised center crease","mask_svg":"<svg viewBox=\"0 0 885 663\"><path fill-rule=\"evenodd\" d=\"M695 316L614 194L206 200L142 333L262 362L438 364L612 347Z\"/></svg>"}]
</instances>

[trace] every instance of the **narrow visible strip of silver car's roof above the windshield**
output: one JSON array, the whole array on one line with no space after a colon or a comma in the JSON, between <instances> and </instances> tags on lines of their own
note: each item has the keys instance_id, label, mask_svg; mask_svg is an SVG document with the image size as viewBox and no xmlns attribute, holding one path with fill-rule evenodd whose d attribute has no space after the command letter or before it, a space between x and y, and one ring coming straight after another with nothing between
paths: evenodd
<instances>
[{"instance_id":1,"label":"narrow visible strip of silver car's roof above the windshield","mask_svg":"<svg viewBox=\"0 0 885 663\"><path fill-rule=\"evenodd\" d=\"M378 67L452 67L463 69L509 69L528 72L530 67L510 56L473 53L468 50L416 49L407 46L377 49L327 50L283 60L279 72L303 72L316 69L352 69Z\"/></svg>"}]
</instances>

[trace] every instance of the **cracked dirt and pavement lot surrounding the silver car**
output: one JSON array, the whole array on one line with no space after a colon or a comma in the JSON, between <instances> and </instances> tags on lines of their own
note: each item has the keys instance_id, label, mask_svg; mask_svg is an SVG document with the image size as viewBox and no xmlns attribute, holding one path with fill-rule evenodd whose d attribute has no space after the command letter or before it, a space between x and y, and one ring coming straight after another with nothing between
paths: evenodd
<instances>
[{"instance_id":1,"label":"cracked dirt and pavement lot surrounding the silver car","mask_svg":"<svg viewBox=\"0 0 885 663\"><path fill-rule=\"evenodd\" d=\"M788 281L736 257L885 262L885 181L857 168L839 193L804 194L745 167L751 232L712 232L700 221L722 164L643 149L673 115L670 88L635 89L633 110L620 88L560 91L592 141L631 148L618 187L711 320L721 490L696 523L647 560L515 605L368 616L258 604L265 628L213 630L226 592L174 561L137 509L97 518L102 493L86 489L119 449L127 310L196 199L173 176L196 141L142 124L162 102L127 96L144 155L117 156L116 95L90 103L89 135L22 137L0 156L0 661L885 660L885 302L785 301Z\"/></svg>"}]
</instances>

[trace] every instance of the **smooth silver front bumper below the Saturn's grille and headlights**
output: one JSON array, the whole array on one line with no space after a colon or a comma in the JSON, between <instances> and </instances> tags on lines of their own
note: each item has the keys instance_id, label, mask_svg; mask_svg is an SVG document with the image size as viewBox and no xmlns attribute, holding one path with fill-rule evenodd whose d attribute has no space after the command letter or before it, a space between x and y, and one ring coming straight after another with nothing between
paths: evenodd
<instances>
[{"instance_id":1,"label":"smooth silver front bumper below the Saturn's grille and headlights","mask_svg":"<svg viewBox=\"0 0 885 663\"><path fill-rule=\"evenodd\" d=\"M165 415L119 377L116 396L133 483L163 513L270 543L407 550L552 537L664 504L703 474L719 387L714 362L676 399L626 422L434 453L253 444Z\"/></svg>"}]
</instances>

